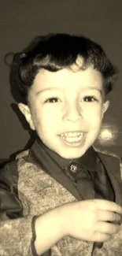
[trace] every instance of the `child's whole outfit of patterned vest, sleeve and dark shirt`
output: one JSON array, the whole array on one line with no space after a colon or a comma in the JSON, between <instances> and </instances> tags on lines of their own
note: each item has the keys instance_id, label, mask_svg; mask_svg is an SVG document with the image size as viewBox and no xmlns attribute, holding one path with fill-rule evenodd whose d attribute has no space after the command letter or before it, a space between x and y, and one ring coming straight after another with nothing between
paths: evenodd
<instances>
[{"instance_id":1,"label":"child's whole outfit of patterned vest, sleeve and dark shirt","mask_svg":"<svg viewBox=\"0 0 122 256\"><path fill-rule=\"evenodd\" d=\"M81 158L69 160L37 138L0 172L0 255L37 256L36 217L66 202L94 198L122 206L120 158L90 147ZM65 236L42 255L120 256L122 229L104 243Z\"/></svg>"}]
</instances>

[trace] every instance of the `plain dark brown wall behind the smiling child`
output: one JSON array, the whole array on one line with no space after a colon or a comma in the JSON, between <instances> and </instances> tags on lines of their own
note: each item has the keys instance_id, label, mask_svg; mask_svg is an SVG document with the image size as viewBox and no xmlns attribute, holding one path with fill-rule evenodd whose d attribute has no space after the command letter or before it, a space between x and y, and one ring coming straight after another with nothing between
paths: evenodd
<instances>
[{"instance_id":1,"label":"plain dark brown wall behind the smiling child","mask_svg":"<svg viewBox=\"0 0 122 256\"><path fill-rule=\"evenodd\" d=\"M119 79L109 94L111 104L103 120L103 126L109 126L116 139L96 145L122 156L122 1L4 0L0 4L0 162L28 148L35 138L32 134L30 139L31 131L17 111L4 56L22 50L35 35L50 32L87 35L102 44L117 65Z\"/></svg>"}]
</instances>

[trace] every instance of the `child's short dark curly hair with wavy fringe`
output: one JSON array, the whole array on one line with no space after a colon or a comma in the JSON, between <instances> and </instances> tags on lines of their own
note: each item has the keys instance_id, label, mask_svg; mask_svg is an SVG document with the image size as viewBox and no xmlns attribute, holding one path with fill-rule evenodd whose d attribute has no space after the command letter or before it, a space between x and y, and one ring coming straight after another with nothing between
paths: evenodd
<instances>
[{"instance_id":1,"label":"child's short dark curly hair with wavy fringe","mask_svg":"<svg viewBox=\"0 0 122 256\"><path fill-rule=\"evenodd\" d=\"M79 69L94 65L102 73L105 95L112 91L116 67L102 46L85 36L63 33L36 36L21 53L14 54L9 76L12 91L18 90L24 104L28 104L28 91L41 69L50 72L71 69L78 57L83 58Z\"/></svg>"}]
</instances>

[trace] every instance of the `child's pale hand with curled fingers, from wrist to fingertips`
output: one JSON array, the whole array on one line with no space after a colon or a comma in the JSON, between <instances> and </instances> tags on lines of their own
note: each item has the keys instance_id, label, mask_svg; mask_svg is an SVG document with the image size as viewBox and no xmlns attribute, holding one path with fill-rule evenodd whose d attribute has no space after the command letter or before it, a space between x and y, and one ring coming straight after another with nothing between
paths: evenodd
<instances>
[{"instance_id":1,"label":"child's pale hand with curled fingers, from wrist to fingertips","mask_svg":"<svg viewBox=\"0 0 122 256\"><path fill-rule=\"evenodd\" d=\"M122 207L102 199L65 204L66 236L76 239L104 242L120 231ZM112 221L108 223L106 221Z\"/></svg>"}]
</instances>

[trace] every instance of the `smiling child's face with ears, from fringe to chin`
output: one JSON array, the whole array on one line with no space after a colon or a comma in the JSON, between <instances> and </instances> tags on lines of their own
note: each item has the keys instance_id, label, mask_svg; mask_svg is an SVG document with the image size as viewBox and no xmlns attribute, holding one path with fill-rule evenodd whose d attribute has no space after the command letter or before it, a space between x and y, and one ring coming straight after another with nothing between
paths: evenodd
<instances>
[{"instance_id":1,"label":"smiling child's face with ears, from fringe to chin","mask_svg":"<svg viewBox=\"0 0 122 256\"><path fill-rule=\"evenodd\" d=\"M102 83L92 66L79 72L43 70L29 92L30 107L20 103L19 108L46 147L62 158L79 158L98 138L109 106Z\"/></svg>"}]
</instances>

